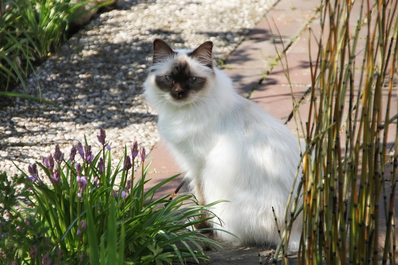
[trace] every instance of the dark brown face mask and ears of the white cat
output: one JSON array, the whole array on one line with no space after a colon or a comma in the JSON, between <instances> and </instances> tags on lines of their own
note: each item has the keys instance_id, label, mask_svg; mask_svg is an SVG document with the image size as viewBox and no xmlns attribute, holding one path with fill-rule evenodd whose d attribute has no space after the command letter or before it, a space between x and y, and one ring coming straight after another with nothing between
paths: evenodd
<instances>
[{"instance_id":1,"label":"dark brown face mask and ears of the white cat","mask_svg":"<svg viewBox=\"0 0 398 265\"><path fill-rule=\"evenodd\" d=\"M164 41L155 39L154 41L153 63L161 63L166 58L176 57L177 53L173 51ZM213 61L211 58L213 43L206 41L191 53L187 53L188 57L195 58L206 67L213 71ZM163 75L155 76L156 86L165 93L177 100L184 100L190 94L197 94L205 88L207 79L205 77L196 76L189 63L186 60L174 60L170 70Z\"/></svg>"}]
</instances>

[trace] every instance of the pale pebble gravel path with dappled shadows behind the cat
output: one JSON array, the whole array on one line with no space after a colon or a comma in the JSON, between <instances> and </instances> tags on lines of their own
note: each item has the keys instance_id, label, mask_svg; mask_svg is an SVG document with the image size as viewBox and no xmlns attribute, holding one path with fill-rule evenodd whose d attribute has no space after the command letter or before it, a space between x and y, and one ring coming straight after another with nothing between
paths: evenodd
<instances>
[{"instance_id":1,"label":"pale pebble gravel path with dappled shadows behind the cat","mask_svg":"<svg viewBox=\"0 0 398 265\"><path fill-rule=\"evenodd\" d=\"M18 173L12 160L27 170L27 163L53 152L56 143L68 155L84 135L97 152L101 127L112 142L115 163L133 140L149 153L160 136L156 112L140 96L140 87L153 39L190 48L210 39L215 57L225 60L274 2L119 0L117 10L92 20L36 71L43 98L64 111L20 99L0 109L0 171ZM38 94L34 77L27 86Z\"/></svg>"}]
</instances>

